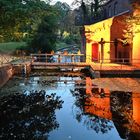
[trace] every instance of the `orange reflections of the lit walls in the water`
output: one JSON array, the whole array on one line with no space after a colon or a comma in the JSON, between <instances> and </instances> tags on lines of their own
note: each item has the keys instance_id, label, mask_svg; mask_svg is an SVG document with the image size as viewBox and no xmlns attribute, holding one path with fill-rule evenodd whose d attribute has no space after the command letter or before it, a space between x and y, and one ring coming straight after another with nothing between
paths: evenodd
<instances>
[{"instance_id":1,"label":"orange reflections of the lit walls in the water","mask_svg":"<svg viewBox=\"0 0 140 140\"><path fill-rule=\"evenodd\" d=\"M104 93L105 97L101 97L102 93ZM102 89L96 86L93 87L92 80L90 79L90 77L87 77L86 94L88 95L88 98L86 99L86 104L84 106L85 113L97 115L101 118L105 118L108 120L113 120L113 115L111 112L112 108L111 102L114 101L111 100L110 98L111 92L108 89ZM125 94L127 93L124 92L122 95ZM131 109L129 111L125 111L125 109L124 110L122 109L121 114L123 114L124 117L128 120L127 125L125 124L125 128L131 130L136 134L140 134L139 93L131 93L131 95L132 95L130 99L132 100L132 104L130 107ZM123 126L123 124L120 125Z\"/></svg>"}]
</instances>

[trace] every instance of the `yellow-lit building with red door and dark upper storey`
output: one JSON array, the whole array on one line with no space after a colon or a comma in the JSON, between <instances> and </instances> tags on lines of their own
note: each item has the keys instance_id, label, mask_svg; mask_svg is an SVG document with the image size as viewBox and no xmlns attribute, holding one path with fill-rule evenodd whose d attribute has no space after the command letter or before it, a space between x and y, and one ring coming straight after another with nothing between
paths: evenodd
<instances>
[{"instance_id":1,"label":"yellow-lit building with red door and dark upper storey","mask_svg":"<svg viewBox=\"0 0 140 140\"><path fill-rule=\"evenodd\" d=\"M139 7L137 0L110 0L104 5L101 15L106 16L85 25L86 62L140 61Z\"/></svg>"}]
</instances>

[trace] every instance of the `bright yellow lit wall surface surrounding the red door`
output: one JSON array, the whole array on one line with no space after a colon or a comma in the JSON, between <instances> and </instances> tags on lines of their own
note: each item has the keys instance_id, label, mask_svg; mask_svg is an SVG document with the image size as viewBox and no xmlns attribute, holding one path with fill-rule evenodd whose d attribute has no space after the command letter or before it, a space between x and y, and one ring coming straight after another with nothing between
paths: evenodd
<instances>
[{"instance_id":1,"label":"bright yellow lit wall surface surrounding the red door","mask_svg":"<svg viewBox=\"0 0 140 140\"><path fill-rule=\"evenodd\" d=\"M85 36L86 36L86 62L92 61L92 44L100 42L101 38L105 41L110 41L110 26L112 25L113 18L98 22L93 25L85 26ZM110 59L110 44L104 45L104 59ZM101 48L99 45L98 56L101 59ZM90 59L89 59L90 58Z\"/></svg>"}]
</instances>

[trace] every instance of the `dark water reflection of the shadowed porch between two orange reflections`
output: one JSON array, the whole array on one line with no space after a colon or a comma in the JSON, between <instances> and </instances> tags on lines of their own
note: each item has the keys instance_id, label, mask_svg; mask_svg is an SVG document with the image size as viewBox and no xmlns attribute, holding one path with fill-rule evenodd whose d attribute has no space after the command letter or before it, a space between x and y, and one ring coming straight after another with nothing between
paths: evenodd
<instances>
[{"instance_id":1,"label":"dark water reflection of the shadowed porch between two orange reflections","mask_svg":"<svg viewBox=\"0 0 140 140\"><path fill-rule=\"evenodd\" d=\"M111 92L112 120L122 139L138 140L139 134L132 130L140 128L133 120L133 101L131 92Z\"/></svg>"}]
</instances>

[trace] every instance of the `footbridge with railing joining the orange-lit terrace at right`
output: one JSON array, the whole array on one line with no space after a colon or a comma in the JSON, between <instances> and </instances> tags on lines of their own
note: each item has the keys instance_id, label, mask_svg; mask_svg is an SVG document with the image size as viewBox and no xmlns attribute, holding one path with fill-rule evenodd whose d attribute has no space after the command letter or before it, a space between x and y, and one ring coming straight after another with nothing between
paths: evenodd
<instances>
[{"instance_id":1,"label":"footbridge with railing joining the orange-lit terrace at right","mask_svg":"<svg viewBox=\"0 0 140 140\"><path fill-rule=\"evenodd\" d=\"M33 69L55 69L55 68L79 68L89 67L94 73L98 71L101 75L139 75L140 65L125 65L124 63L95 63L82 62L85 56L83 54L32 54Z\"/></svg>"}]
</instances>

